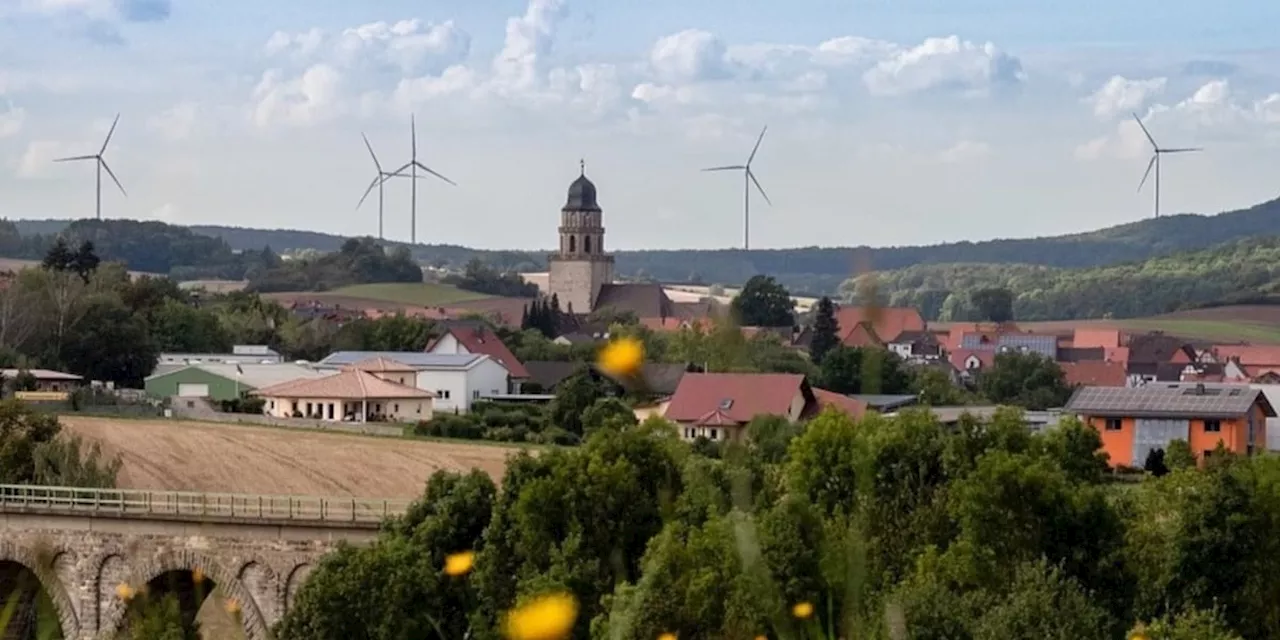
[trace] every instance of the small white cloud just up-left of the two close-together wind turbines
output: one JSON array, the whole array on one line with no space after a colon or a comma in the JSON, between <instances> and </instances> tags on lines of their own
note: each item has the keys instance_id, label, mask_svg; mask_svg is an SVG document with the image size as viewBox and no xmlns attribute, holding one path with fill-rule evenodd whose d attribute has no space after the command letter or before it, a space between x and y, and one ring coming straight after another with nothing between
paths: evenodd
<instances>
[{"instance_id":1,"label":"small white cloud just up-left of the two close-together wind turbines","mask_svg":"<svg viewBox=\"0 0 1280 640\"><path fill-rule=\"evenodd\" d=\"M297 78L285 79L279 70L262 74L253 88L252 122L311 125L329 120L343 110L342 73L328 64L316 64Z\"/></svg>"}]
</instances>

